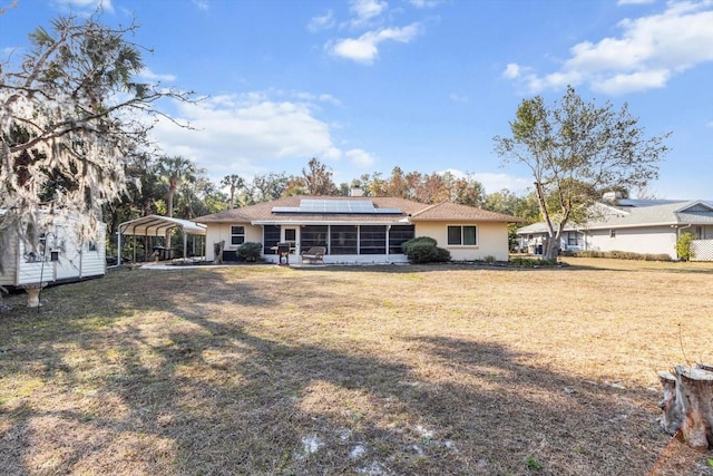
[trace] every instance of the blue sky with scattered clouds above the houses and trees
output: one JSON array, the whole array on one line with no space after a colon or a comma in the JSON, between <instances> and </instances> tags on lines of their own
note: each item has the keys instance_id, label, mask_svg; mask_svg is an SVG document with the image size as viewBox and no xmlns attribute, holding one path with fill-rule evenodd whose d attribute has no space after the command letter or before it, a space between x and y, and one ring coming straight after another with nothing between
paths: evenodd
<instances>
[{"instance_id":1,"label":"blue sky with scattered clouds above the houses and trees","mask_svg":"<svg viewBox=\"0 0 713 476\"><path fill-rule=\"evenodd\" d=\"M647 194L713 200L713 0L16 1L3 57L58 13L135 18L144 76L208 96L165 105L198 130L166 122L155 138L216 181L319 157L338 184L400 166L522 193L527 171L502 167L492 137L524 98L573 85L673 133Z\"/></svg>"}]
</instances>

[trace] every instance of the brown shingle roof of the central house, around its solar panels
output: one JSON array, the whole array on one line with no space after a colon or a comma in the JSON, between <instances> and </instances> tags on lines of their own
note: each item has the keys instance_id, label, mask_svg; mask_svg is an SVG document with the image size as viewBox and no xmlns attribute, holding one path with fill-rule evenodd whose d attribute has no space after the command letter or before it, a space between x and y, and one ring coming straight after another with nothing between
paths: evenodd
<instances>
[{"instance_id":1,"label":"brown shingle roof of the central house, around its solar panels","mask_svg":"<svg viewBox=\"0 0 713 476\"><path fill-rule=\"evenodd\" d=\"M297 207L302 200L370 201L377 208L398 208L400 214L306 214L273 212L274 207ZM519 222L519 218L455 203L426 205L404 198L383 196L304 196L295 195L241 208L199 216L197 223L406 223L416 221Z\"/></svg>"}]
</instances>

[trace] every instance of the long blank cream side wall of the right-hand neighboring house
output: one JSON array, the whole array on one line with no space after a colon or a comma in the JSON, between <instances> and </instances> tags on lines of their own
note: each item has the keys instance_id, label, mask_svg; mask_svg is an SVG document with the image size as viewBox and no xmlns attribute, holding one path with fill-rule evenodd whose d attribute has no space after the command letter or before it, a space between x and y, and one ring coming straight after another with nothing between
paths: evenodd
<instances>
[{"instance_id":1,"label":"long blank cream side wall of the right-hand neighboring house","mask_svg":"<svg viewBox=\"0 0 713 476\"><path fill-rule=\"evenodd\" d=\"M585 250L629 251L642 254L668 254L676 259L676 230L663 226L618 229L616 236L609 230L586 232Z\"/></svg>"}]
</instances>

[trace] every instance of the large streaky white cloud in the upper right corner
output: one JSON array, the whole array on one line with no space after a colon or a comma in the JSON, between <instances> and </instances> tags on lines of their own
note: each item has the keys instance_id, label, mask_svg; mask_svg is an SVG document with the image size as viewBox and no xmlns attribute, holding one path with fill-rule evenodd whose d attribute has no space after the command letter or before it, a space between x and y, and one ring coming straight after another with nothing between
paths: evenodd
<instances>
[{"instance_id":1,"label":"large streaky white cloud in the upper right corner","mask_svg":"<svg viewBox=\"0 0 713 476\"><path fill-rule=\"evenodd\" d=\"M713 61L713 1L671 1L663 13L618 23L622 35L583 41L557 71L539 76L510 64L504 77L530 91L587 84L612 95L662 88L675 75Z\"/></svg>"}]
</instances>

